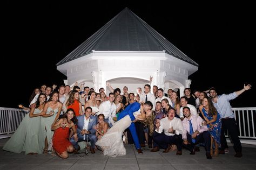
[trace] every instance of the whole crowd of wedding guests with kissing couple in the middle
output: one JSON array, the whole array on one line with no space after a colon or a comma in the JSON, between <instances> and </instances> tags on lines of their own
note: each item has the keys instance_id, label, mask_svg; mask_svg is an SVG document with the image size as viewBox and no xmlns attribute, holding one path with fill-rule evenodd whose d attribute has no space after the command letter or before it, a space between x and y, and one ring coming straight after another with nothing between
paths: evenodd
<instances>
[{"instance_id":1,"label":"whole crowd of wedding guests with kissing couple in the middle","mask_svg":"<svg viewBox=\"0 0 256 170\"><path fill-rule=\"evenodd\" d=\"M141 88L137 89L138 97L128 94L127 87L124 87L123 94L127 93L124 96L119 88L107 86L113 91L108 97L104 88L100 88L99 93L89 87L80 91L82 87L75 86L70 90L68 85L53 91L46 86L35 89L29 108L22 106L30 111L29 114L3 150L25 151L26 154L51 151L52 155L68 158L68 153L78 153L80 141L90 141L92 154L101 150L104 155L116 157L126 154L125 135L138 153L143 153L145 140L151 152L164 149L167 153L177 147L177 155L182 154L183 147L195 154L199 143L203 143L206 158L212 159L228 148L224 135L227 129L234 142L235 157L242 156L229 101L251 89L251 84L220 96L215 88L208 90L209 96L195 90L197 98L186 88L180 100L177 92L171 89L165 95L163 89L153 86L151 94L150 84L145 84L144 93Z\"/></svg>"}]
</instances>

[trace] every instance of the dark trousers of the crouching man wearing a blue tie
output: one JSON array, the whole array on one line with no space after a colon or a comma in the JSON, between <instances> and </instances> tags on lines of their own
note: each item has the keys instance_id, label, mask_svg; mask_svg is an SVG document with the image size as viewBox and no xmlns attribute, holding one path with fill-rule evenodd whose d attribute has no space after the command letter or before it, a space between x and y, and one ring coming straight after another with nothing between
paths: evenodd
<instances>
[{"instance_id":1,"label":"dark trousers of the crouching man wearing a blue tie","mask_svg":"<svg viewBox=\"0 0 256 170\"><path fill-rule=\"evenodd\" d=\"M196 143L193 143L191 135L187 134L187 141L190 144L187 144L187 145L183 144L183 146L186 147L190 152L192 152L194 150L194 146L196 144L203 143L203 142L205 143L206 152L210 152L210 150L211 150L211 135L210 135L210 132L208 132L208 131L204 131L203 133L200 133L196 137Z\"/></svg>"}]
</instances>

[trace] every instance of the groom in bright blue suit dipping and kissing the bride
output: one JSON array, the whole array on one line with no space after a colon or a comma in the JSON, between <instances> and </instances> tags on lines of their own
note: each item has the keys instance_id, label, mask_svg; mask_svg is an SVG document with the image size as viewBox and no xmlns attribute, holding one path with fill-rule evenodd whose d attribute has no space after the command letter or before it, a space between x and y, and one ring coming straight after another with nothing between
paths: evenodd
<instances>
[{"instance_id":1,"label":"groom in bright blue suit dipping and kissing the bride","mask_svg":"<svg viewBox=\"0 0 256 170\"><path fill-rule=\"evenodd\" d=\"M150 101L147 101L143 105L144 111L151 110L153 108L153 104ZM137 102L134 102L132 104L129 104L122 112L120 112L120 115L118 117L118 121L125 117L126 115L129 115L131 118L131 121L134 121L135 117L133 116L133 112L136 112L140 109L140 104ZM139 138L138 134L136 132L135 124L132 122L131 125L129 126L129 130L132 134L132 138L134 141L134 144L136 146L136 149L138 150L138 153L142 153L142 149L139 144Z\"/></svg>"}]
</instances>

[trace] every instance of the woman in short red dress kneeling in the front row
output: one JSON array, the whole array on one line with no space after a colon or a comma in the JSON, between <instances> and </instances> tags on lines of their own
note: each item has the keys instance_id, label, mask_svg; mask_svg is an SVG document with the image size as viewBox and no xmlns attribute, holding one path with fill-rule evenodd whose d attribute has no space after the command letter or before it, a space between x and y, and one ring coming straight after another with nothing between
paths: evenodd
<instances>
[{"instance_id":1,"label":"woman in short red dress kneeling in the front row","mask_svg":"<svg viewBox=\"0 0 256 170\"><path fill-rule=\"evenodd\" d=\"M74 138L77 141L77 131L74 121L77 122L75 111L70 108L66 111L65 117L60 118L55 125L52 126L54 134L52 137L53 148L60 158L66 159L69 157L68 152L73 152L73 145L69 142L69 130L72 129Z\"/></svg>"}]
</instances>

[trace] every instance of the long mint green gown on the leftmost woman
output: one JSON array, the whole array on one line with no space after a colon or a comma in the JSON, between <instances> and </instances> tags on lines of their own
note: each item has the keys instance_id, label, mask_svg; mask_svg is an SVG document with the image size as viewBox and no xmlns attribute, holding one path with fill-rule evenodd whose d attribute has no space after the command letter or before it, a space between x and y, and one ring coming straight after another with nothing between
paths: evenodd
<instances>
[{"instance_id":1,"label":"long mint green gown on the leftmost woman","mask_svg":"<svg viewBox=\"0 0 256 170\"><path fill-rule=\"evenodd\" d=\"M39 114L42 110L35 109L33 114ZM39 140L41 135L41 116L29 117L27 114L18 129L12 134L11 138L5 143L3 150L21 153L25 151L28 153L43 152L41 146L39 146Z\"/></svg>"}]
</instances>

